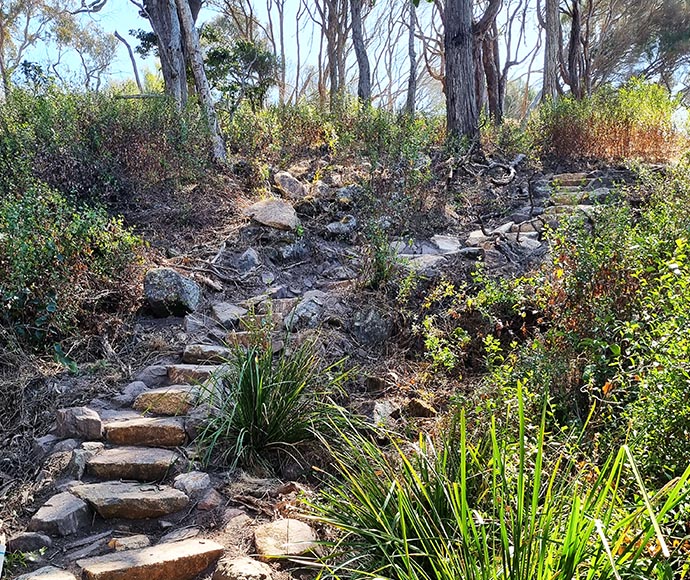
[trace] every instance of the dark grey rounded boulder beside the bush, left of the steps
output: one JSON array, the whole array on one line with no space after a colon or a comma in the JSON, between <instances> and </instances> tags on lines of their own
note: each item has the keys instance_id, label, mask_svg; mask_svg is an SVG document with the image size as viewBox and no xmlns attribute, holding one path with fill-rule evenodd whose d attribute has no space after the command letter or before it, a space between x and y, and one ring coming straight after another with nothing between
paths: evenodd
<instances>
[{"instance_id":1,"label":"dark grey rounded boulder beside the bush, left of the steps","mask_svg":"<svg viewBox=\"0 0 690 580\"><path fill-rule=\"evenodd\" d=\"M144 278L144 294L156 316L183 316L199 306L201 288L171 268L154 268Z\"/></svg>"}]
</instances>

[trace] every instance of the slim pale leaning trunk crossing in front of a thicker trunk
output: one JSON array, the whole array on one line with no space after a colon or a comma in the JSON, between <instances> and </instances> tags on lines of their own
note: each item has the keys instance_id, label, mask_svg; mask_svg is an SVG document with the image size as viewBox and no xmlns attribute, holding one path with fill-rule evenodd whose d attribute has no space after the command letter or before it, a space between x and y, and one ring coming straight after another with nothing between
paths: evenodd
<instances>
[{"instance_id":1,"label":"slim pale leaning trunk crossing in front of a thicker trunk","mask_svg":"<svg viewBox=\"0 0 690 580\"><path fill-rule=\"evenodd\" d=\"M199 34L194 26L194 17L187 0L175 0L175 2L177 3L180 24L182 25L186 51L191 62L192 73L194 74L194 84L211 133L213 160L216 163L223 163L226 159L225 144L218 127L218 117L213 106L211 87L208 84L206 71L204 70L204 59L199 46Z\"/></svg>"}]
</instances>

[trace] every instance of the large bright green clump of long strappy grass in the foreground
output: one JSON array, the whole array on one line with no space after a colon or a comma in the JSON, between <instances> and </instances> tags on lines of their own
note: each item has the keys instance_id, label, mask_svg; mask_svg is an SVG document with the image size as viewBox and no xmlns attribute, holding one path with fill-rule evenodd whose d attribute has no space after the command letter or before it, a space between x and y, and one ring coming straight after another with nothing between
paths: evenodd
<instances>
[{"instance_id":1,"label":"large bright green clump of long strappy grass in the foreground","mask_svg":"<svg viewBox=\"0 0 690 580\"><path fill-rule=\"evenodd\" d=\"M521 397L519 396L519 401ZM662 525L687 501L688 469L654 497L627 448L601 470L551 454L545 417L477 443L460 413L438 440L384 450L354 431L327 443L336 474L314 517L340 531L323 576L417 580L670 578ZM637 482L631 501L620 482Z\"/></svg>"}]
</instances>

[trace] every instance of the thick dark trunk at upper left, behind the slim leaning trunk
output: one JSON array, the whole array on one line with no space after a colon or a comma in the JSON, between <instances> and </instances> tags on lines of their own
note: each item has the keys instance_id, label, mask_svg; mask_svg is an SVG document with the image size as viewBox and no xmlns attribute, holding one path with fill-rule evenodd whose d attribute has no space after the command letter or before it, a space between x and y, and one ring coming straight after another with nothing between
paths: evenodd
<instances>
[{"instance_id":1,"label":"thick dark trunk at upper left, behind the slim leaning trunk","mask_svg":"<svg viewBox=\"0 0 690 580\"><path fill-rule=\"evenodd\" d=\"M175 0L144 0L144 8L156 34L165 92L182 107L188 98L187 72Z\"/></svg>"}]
</instances>

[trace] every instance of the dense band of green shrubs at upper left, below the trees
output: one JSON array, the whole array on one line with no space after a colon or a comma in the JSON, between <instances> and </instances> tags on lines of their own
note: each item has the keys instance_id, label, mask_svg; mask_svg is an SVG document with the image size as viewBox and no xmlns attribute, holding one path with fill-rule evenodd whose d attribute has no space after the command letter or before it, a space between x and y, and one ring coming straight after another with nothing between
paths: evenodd
<instances>
[{"instance_id":1,"label":"dense band of green shrubs at upper left, below the trees","mask_svg":"<svg viewBox=\"0 0 690 580\"><path fill-rule=\"evenodd\" d=\"M34 181L68 195L126 201L208 166L198 108L165 98L35 94L15 89L0 106L0 192Z\"/></svg>"}]
</instances>

